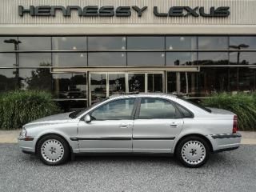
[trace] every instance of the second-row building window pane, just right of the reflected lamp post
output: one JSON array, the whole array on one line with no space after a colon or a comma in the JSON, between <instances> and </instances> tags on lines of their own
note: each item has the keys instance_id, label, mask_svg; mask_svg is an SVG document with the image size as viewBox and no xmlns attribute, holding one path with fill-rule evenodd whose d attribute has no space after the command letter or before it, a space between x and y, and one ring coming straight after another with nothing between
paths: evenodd
<instances>
[{"instance_id":1,"label":"second-row building window pane, just right of the reflected lamp post","mask_svg":"<svg viewBox=\"0 0 256 192\"><path fill-rule=\"evenodd\" d=\"M27 53L19 55L20 67L37 67L37 66L51 66L50 53Z\"/></svg>"}]
</instances>

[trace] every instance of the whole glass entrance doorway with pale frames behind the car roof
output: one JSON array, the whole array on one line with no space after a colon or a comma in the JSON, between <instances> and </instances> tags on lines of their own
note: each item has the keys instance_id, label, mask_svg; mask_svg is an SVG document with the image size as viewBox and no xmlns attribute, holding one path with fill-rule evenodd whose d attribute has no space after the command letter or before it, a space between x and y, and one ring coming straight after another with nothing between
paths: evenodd
<instances>
[{"instance_id":1,"label":"whole glass entrance doorway with pale frames behind the car roof","mask_svg":"<svg viewBox=\"0 0 256 192\"><path fill-rule=\"evenodd\" d=\"M113 94L164 92L163 72L90 72L89 104Z\"/></svg>"}]
</instances>

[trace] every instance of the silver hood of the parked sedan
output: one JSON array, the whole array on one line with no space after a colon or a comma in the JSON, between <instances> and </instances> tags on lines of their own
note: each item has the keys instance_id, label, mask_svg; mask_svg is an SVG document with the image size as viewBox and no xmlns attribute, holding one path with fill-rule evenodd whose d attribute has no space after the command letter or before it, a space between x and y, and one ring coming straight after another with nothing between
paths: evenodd
<instances>
[{"instance_id":1,"label":"silver hood of the parked sedan","mask_svg":"<svg viewBox=\"0 0 256 192\"><path fill-rule=\"evenodd\" d=\"M27 123L25 126L30 126L38 123L42 124L48 124L48 123L57 123L57 122L66 122L68 120L71 120L72 118L69 117L69 115L72 112L64 113L64 114L54 114L47 116L45 118L38 118L37 120L34 120L33 122Z\"/></svg>"}]
</instances>

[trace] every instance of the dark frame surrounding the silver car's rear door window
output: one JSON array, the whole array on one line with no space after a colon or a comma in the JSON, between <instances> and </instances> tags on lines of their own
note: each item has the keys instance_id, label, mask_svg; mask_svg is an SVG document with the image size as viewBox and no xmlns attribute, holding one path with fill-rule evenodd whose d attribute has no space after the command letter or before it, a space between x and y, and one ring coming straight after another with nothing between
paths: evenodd
<instances>
[{"instance_id":1,"label":"dark frame surrounding the silver car's rear door window","mask_svg":"<svg viewBox=\"0 0 256 192\"><path fill-rule=\"evenodd\" d=\"M163 100L163 101L166 101L166 102L170 102L170 104L174 106L174 108L178 112L178 114L176 115L175 118L139 118L139 113L140 113L140 110L141 110L142 99L159 99L159 100ZM137 108L136 108L134 119L149 120L149 119L179 119L179 118L183 118L183 114L181 113L180 110L178 110L178 107L176 106L176 102L174 102L174 101L172 101L170 99L158 98L158 97L142 97L142 98L138 99L138 103L137 103Z\"/></svg>"}]
</instances>

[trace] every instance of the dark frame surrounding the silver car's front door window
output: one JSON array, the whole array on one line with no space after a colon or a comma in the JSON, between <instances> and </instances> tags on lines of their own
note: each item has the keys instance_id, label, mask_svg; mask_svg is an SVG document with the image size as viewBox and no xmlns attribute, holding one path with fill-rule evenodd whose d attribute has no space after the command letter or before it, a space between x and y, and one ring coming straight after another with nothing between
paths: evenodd
<instances>
[{"instance_id":1,"label":"dark frame surrounding the silver car's front door window","mask_svg":"<svg viewBox=\"0 0 256 192\"><path fill-rule=\"evenodd\" d=\"M97 106L96 108L94 108L93 110L90 110L89 113L86 113L86 114L89 114L90 117L92 118L91 114L95 111L95 110L98 110L98 108L102 107L102 106L106 106L107 104L109 104L110 102L117 102L117 101L121 101L121 100L127 100L127 99L134 99L134 106L133 106L133 110L130 114L130 118L126 118L126 119L91 119L91 121L122 121L122 120L134 120L134 115L135 115L135 112L136 112L136 109L137 109L137 106L138 106L138 98L117 98L117 99L113 99L113 100L110 100L108 102L104 102L102 104L99 104L99 106ZM82 117L82 119L86 116L86 114Z\"/></svg>"}]
</instances>

